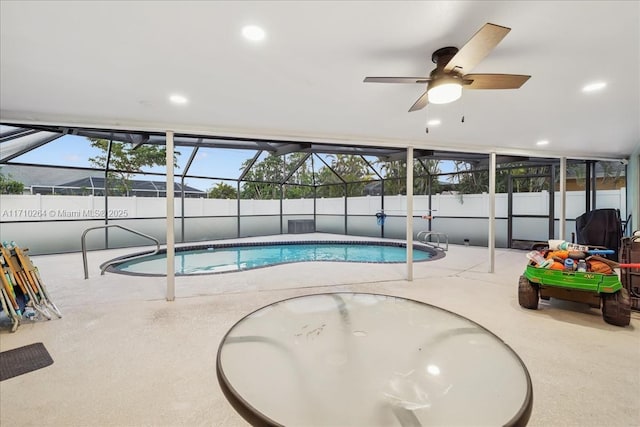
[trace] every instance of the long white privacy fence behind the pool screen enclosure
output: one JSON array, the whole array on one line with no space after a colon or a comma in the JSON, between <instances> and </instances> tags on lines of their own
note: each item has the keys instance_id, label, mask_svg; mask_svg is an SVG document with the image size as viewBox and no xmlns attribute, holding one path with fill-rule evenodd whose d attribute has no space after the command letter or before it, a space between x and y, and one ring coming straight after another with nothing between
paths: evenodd
<instances>
[{"instance_id":1,"label":"long white privacy fence behind the pool screen enclosure","mask_svg":"<svg viewBox=\"0 0 640 427\"><path fill-rule=\"evenodd\" d=\"M626 191L601 190L597 193L595 208L620 209L626 216ZM567 235L575 230L575 219L584 212L584 191L567 192ZM555 193L555 218L559 217L560 195ZM239 215L238 215L239 208ZM346 218L345 218L346 208ZM380 236L381 227L375 214L382 208L380 196L320 198L315 201L316 230L363 236ZM449 235L453 243L465 239L473 245L487 244L489 197L487 194L447 195L431 197L432 229ZM496 244L506 246L507 194L496 195ZM282 221L280 214L282 210ZM34 254L78 251L80 236L88 227L103 225L105 211L110 224L122 224L163 241L165 238L164 198L54 196L54 195L1 195L0 239L15 240L31 248ZM385 196L384 211L388 215L384 236L404 238L406 225L406 197ZM547 216L549 194L514 193L513 215ZM287 223L294 219L314 219L313 199L241 200L192 199L175 201L176 241L204 241L240 236L255 236L287 232ZM428 196L414 196L414 230L424 230L428 223L422 219L429 214ZM345 230L346 228L346 230ZM514 218L513 238L546 240L548 218ZM134 235L112 230L109 247L146 244ZM105 233L95 231L88 237L89 248L105 247Z\"/></svg>"}]
</instances>

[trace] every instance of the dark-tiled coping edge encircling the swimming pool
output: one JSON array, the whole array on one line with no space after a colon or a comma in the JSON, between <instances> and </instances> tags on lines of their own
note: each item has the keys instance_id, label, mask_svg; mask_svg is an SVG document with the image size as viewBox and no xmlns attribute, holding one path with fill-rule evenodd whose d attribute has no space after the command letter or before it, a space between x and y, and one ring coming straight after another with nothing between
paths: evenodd
<instances>
[{"instance_id":1,"label":"dark-tiled coping edge encircling the swimming pool","mask_svg":"<svg viewBox=\"0 0 640 427\"><path fill-rule=\"evenodd\" d=\"M252 246L281 246L281 245L308 245L308 244L317 244L317 245L374 245L374 246L395 246L406 248L406 242L399 241L389 241L389 240L281 240L281 241L266 241L266 242L234 242L234 243L207 243L207 244L195 244L195 245L185 245L176 247L176 252L184 252L190 250L203 250L203 249L223 249L223 248L231 248L231 247L252 247ZM424 260L414 260L413 262L428 262L428 261L436 261L438 259L444 258L446 255L444 249L435 247L432 245L422 244L413 242L413 249L428 252L431 254L431 258ZM166 274L156 274L156 273L138 273L131 271L122 271L115 268L118 264L122 262L126 262L127 259L152 254L154 251L142 251L136 252L132 254L122 255L116 258L112 258L108 261L100 264L100 270L103 270L103 267L107 264L111 264L108 267L104 268L104 271L108 271L110 273L115 274L124 274L127 276L140 276L140 277L166 277ZM161 248L158 251L158 254L165 254L167 252L166 248ZM406 261L389 261L389 262L375 262L375 261L336 261L336 260L313 260L313 261L283 261L269 265L262 265L258 267L251 268L240 268L237 270L230 271L212 271L206 273L175 273L176 277L190 277L190 276L209 276L212 274L227 274L227 273L239 273L242 271L250 271L256 270L260 268L269 268L277 265L285 265L285 264L297 264L304 262L340 262L340 263L352 263L352 264L405 264Z\"/></svg>"}]
</instances>

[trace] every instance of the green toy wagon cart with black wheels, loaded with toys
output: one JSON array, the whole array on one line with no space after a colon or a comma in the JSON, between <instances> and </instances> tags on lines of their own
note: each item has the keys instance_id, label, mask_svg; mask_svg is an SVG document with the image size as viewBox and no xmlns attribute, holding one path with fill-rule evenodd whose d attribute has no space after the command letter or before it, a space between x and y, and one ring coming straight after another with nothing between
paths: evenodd
<instances>
[{"instance_id":1,"label":"green toy wagon cart with black wheels, loaded with toys","mask_svg":"<svg viewBox=\"0 0 640 427\"><path fill-rule=\"evenodd\" d=\"M605 322L627 326L631 318L629 294L615 268L640 268L620 264L600 255L612 250L549 241L549 248L527 254L529 263L518 282L518 302L531 310L539 298L558 298L602 307Z\"/></svg>"}]
</instances>

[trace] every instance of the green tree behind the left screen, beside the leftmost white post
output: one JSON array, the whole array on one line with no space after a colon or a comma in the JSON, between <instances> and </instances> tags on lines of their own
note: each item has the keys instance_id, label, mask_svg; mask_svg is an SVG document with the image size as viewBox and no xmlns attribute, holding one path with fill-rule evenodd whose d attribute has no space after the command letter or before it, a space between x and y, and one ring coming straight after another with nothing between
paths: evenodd
<instances>
[{"instance_id":1,"label":"green tree behind the left screen, beside the leftmost white post","mask_svg":"<svg viewBox=\"0 0 640 427\"><path fill-rule=\"evenodd\" d=\"M107 164L107 151L109 141L106 139L89 138L91 146L98 148L102 153L96 157L90 157L89 161L104 169ZM173 153L173 165L177 167L178 152ZM116 179L117 189L124 195L129 195L131 190L131 177L142 172L142 168L161 166L166 163L166 149L156 145L141 145L133 149L129 143L113 141L111 144L111 157L109 159L108 178Z\"/></svg>"}]
</instances>

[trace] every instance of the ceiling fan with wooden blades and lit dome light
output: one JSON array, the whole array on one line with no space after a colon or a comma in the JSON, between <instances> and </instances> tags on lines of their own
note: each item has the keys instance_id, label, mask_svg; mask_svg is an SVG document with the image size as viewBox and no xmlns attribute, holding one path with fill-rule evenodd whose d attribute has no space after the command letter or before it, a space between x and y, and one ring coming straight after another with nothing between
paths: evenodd
<instances>
[{"instance_id":1,"label":"ceiling fan with wooden blades and lit dome light","mask_svg":"<svg viewBox=\"0 0 640 427\"><path fill-rule=\"evenodd\" d=\"M421 110L432 104L453 102L465 89L518 89L531 76L520 74L468 74L487 56L511 28L485 24L462 48L443 47L433 52L431 60L436 68L429 77L365 77L366 83L422 83L425 92L409 108L409 112Z\"/></svg>"}]
</instances>

